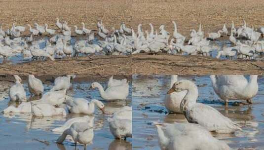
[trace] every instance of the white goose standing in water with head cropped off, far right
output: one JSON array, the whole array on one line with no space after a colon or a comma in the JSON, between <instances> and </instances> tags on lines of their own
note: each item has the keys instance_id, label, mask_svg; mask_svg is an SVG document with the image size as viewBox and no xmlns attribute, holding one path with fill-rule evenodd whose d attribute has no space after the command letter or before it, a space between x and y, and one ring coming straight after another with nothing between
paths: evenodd
<instances>
[{"instance_id":1,"label":"white goose standing in water with head cropped off, far right","mask_svg":"<svg viewBox=\"0 0 264 150\"><path fill-rule=\"evenodd\" d=\"M252 98L258 93L258 75L250 75L249 81L244 75L210 75L215 93L225 101L246 100L252 104Z\"/></svg>"}]
</instances>

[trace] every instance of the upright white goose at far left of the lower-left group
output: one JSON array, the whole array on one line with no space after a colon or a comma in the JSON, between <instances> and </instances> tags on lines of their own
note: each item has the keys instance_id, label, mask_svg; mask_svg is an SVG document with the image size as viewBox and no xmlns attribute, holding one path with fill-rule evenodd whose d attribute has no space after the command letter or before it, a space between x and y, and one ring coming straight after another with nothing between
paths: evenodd
<instances>
[{"instance_id":1,"label":"upright white goose at far left of the lower-left group","mask_svg":"<svg viewBox=\"0 0 264 150\"><path fill-rule=\"evenodd\" d=\"M22 79L18 75L14 75L16 84L9 89L9 97L11 101L27 102L26 92L21 84Z\"/></svg>"}]
</instances>

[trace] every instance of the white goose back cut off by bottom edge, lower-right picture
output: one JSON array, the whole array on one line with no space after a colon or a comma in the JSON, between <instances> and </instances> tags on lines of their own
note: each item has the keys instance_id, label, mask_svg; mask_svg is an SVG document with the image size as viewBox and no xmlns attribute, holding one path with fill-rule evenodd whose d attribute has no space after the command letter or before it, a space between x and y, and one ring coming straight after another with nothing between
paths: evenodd
<instances>
[{"instance_id":1,"label":"white goose back cut off by bottom edge, lower-right picture","mask_svg":"<svg viewBox=\"0 0 264 150\"><path fill-rule=\"evenodd\" d=\"M225 142L213 137L199 124L154 123L161 150L230 150Z\"/></svg>"}]
</instances>

